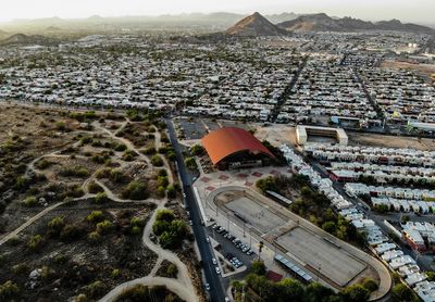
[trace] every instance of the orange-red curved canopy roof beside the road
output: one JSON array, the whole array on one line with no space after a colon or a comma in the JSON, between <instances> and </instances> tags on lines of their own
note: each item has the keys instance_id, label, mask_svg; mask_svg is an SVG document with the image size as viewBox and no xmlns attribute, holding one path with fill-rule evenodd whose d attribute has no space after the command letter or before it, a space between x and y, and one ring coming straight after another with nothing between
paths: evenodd
<instances>
[{"instance_id":1,"label":"orange-red curved canopy roof beside the road","mask_svg":"<svg viewBox=\"0 0 435 302\"><path fill-rule=\"evenodd\" d=\"M226 156L240 151L250 151L254 154L263 153L274 158L271 151L254 136L236 127L214 130L204 136L201 141L214 165Z\"/></svg>"}]
</instances>

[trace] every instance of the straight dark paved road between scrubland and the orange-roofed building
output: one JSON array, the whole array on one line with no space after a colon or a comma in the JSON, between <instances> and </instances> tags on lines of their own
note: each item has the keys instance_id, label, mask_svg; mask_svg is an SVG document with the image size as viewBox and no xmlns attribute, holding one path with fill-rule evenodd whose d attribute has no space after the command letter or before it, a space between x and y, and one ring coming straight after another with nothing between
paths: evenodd
<instances>
[{"instance_id":1,"label":"straight dark paved road between scrubland and the orange-roofed building","mask_svg":"<svg viewBox=\"0 0 435 302\"><path fill-rule=\"evenodd\" d=\"M182 150L178 144L178 140L175 135L175 129L170 119L165 119L167 125L167 130L170 134L170 139L172 146L174 147L176 153L176 161L178 166L179 177L183 181L184 192L186 193L186 203L190 209L191 219L194 222L194 234L197 240L198 249L202 259L202 268L206 274L207 282L210 284L210 298L211 301L223 302L225 301L225 289L221 281L221 276L216 275L214 270L214 265L211 262L213 257L213 252L211 246L206 241L206 229L201 226L201 214L199 211L198 202L195 199L195 194L191 188L191 177L187 172L187 168L184 164L184 159L182 154Z\"/></svg>"}]
</instances>

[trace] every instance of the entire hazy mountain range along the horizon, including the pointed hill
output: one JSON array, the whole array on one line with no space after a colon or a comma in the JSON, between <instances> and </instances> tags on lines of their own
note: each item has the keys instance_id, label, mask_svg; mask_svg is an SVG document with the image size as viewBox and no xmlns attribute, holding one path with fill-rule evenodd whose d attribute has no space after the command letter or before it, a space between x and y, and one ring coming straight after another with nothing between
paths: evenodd
<instances>
[{"instance_id":1,"label":"entire hazy mountain range along the horizon, including the pointed hill","mask_svg":"<svg viewBox=\"0 0 435 302\"><path fill-rule=\"evenodd\" d=\"M229 28L228 28L229 27ZM87 18L63 20L60 17L39 20L15 20L0 24L1 45L55 45L58 41L44 37L60 37L62 32L105 33L113 30L148 30L150 28L190 28L204 33L216 33L226 36L282 36L299 32L362 32L397 30L435 35L435 29L422 25L401 23L398 20L368 22L352 17L335 17L324 13L298 15L282 13L261 15L254 13L246 16L236 13L216 12L210 14L190 13L160 16L102 17L92 15ZM225 30L225 28L228 28ZM17 34L26 33L28 34ZM217 35L217 36L219 36Z\"/></svg>"}]
</instances>

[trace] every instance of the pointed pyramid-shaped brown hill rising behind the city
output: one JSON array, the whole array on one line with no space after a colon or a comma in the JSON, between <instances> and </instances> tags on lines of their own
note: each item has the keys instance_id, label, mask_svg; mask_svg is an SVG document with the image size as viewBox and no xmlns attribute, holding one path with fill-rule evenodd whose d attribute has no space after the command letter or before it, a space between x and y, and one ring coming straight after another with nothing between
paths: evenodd
<instances>
[{"instance_id":1,"label":"pointed pyramid-shaped brown hill rising behind the city","mask_svg":"<svg viewBox=\"0 0 435 302\"><path fill-rule=\"evenodd\" d=\"M254 13L229 27L226 34L237 36L283 36L287 35L288 32L274 25L260 13Z\"/></svg>"}]
</instances>

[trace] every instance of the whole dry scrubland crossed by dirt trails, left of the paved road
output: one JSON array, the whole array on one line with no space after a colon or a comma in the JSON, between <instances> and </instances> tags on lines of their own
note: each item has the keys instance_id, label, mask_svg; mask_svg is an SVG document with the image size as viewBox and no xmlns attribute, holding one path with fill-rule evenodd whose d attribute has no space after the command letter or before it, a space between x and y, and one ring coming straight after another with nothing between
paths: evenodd
<instances>
[{"instance_id":1,"label":"whole dry scrubland crossed by dirt trails, left of the paved road","mask_svg":"<svg viewBox=\"0 0 435 302\"><path fill-rule=\"evenodd\" d=\"M169 202L164 191L156 196L161 169L167 174L164 183L174 185L172 164L162 154L163 165L152 166L137 149L151 139L156 147L165 146L164 129L152 126L154 136L148 137L149 128L114 113L89 113L94 117L86 117L85 126L77 114L0 103L0 285L13 281L20 289L17 300L72 301L85 294L86 301L95 301L104 294L117 297L132 281L164 285L165 278L149 275L170 260L179 272L177 279L169 279L172 290L187 288L188 301L202 301L192 244L177 254L144 239L156 205L182 212L179 198ZM130 130L125 130L128 125ZM127 138L116 136L120 130ZM108 181L97 177L102 169L113 179L145 183L146 198L122 199L115 187L124 189L128 181L105 186ZM113 169L120 172L116 177L110 174ZM89 184L107 197L97 202ZM95 211L100 216L89 221ZM62 223L53 232L49 223L54 217Z\"/></svg>"}]
</instances>

